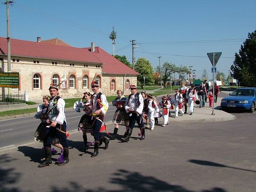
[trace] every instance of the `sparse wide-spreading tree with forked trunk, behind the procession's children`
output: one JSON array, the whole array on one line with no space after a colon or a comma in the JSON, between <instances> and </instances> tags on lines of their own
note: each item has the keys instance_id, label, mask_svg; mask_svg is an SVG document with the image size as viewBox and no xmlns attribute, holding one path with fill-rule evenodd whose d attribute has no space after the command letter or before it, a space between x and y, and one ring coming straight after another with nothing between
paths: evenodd
<instances>
[{"instance_id":1,"label":"sparse wide-spreading tree with forked trunk, behind the procession's children","mask_svg":"<svg viewBox=\"0 0 256 192\"><path fill-rule=\"evenodd\" d=\"M155 68L155 71L159 72L159 66ZM170 76L173 73L182 73L182 72L187 72L186 67L176 67L175 64L165 62L163 64L163 67L161 67L161 76L162 76L162 81L163 81L163 87L166 87L167 80L170 78Z\"/></svg>"}]
</instances>

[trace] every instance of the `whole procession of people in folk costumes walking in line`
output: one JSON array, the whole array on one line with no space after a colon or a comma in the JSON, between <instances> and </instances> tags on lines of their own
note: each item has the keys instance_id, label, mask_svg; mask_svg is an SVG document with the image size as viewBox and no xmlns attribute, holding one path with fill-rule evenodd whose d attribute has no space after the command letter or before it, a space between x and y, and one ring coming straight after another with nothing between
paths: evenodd
<instances>
[{"instance_id":1,"label":"whole procession of people in folk costumes walking in line","mask_svg":"<svg viewBox=\"0 0 256 192\"><path fill-rule=\"evenodd\" d=\"M99 154L99 146L102 143L105 144L104 149L108 149L110 141L101 134L104 130L104 116L108 111L108 102L106 96L99 91L99 84L96 81L91 83L93 94L85 92L80 101L76 102L76 107L84 111L84 115L78 124L78 131L83 133L84 148L81 151L87 151L92 142L87 142L87 133L90 133L94 137L94 151L91 157L96 157ZM215 89L215 87L214 87ZM134 125L137 122L140 128L140 140L145 139L145 128L154 130L155 123L158 124L158 118L160 117L160 110L162 109L163 125L169 124L169 111L175 109L175 118L178 117L178 113L183 116L187 113L187 105L189 105L190 115L193 114L194 102L200 98L200 107L204 107L207 99L207 91L209 90L209 84L202 83L198 92L195 90L195 85L192 84L191 88L187 88L185 83L182 82L178 89L175 89L175 96L172 99L170 94L167 98L163 96L161 102L157 102L150 94L145 92L138 93L135 85L130 86L131 94L128 98L123 96L121 90L117 90L118 95L112 102L113 106L116 106L116 111L113 116L112 122L115 124L112 139L116 139L119 125L125 124L125 134L121 137L123 142L130 140ZM217 91L215 91L216 93ZM49 87L49 93L51 96L43 97L43 104L38 107L38 113L35 117L41 119L41 124L38 126L35 132L35 140L42 142L44 145L45 158L43 163L38 167L49 166L52 164L52 148L54 145L61 148L61 155L58 158L58 166L65 165L69 162L69 146L67 143L67 121L65 117L65 102L59 96L58 85L51 84ZM217 93L218 95L218 93ZM209 94L209 101L212 101L212 94ZM217 101L217 97L215 97ZM173 105L175 108L173 108ZM211 107L210 102L210 107ZM183 106L185 111L183 112ZM144 126L143 119L146 121Z\"/></svg>"}]
</instances>

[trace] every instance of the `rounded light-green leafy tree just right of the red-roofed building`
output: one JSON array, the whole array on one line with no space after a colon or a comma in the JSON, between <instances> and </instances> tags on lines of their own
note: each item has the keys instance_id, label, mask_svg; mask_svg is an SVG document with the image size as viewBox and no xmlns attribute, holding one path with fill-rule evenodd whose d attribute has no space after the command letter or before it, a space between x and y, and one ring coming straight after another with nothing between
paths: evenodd
<instances>
[{"instance_id":1,"label":"rounded light-green leafy tree just right of the red-roofed building","mask_svg":"<svg viewBox=\"0 0 256 192\"><path fill-rule=\"evenodd\" d=\"M137 77L137 84L140 84L142 89L144 85L143 77L145 77L145 84L154 84L154 71L151 63L148 60L145 58L138 58L134 64L134 70L140 73L140 75Z\"/></svg>"}]
</instances>

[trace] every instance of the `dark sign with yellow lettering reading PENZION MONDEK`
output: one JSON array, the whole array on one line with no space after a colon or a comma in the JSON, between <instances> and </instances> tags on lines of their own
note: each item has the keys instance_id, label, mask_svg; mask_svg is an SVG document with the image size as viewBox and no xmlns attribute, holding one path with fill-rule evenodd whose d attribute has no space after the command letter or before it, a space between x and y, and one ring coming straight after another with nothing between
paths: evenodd
<instances>
[{"instance_id":1,"label":"dark sign with yellow lettering reading PENZION MONDEK","mask_svg":"<svg viewBox=\"0 0 256 192\"><path fill-rule=\"evenodd\" d=\"M0 87L19 88L19 73L0 73Z\"/></svg>"}]
</instances>

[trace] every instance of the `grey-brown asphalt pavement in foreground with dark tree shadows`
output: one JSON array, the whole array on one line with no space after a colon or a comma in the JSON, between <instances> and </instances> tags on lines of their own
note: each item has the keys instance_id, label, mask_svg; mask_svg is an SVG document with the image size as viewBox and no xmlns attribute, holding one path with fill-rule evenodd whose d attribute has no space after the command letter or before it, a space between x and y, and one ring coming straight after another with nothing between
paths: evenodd
<instances>
[{"instance_id":1,"label":"grey-brown asphalt pavement in foreground with dark tree shadows","mask_svg":"<svg viewBox=\"0 0 256 192\"><path fill-rule=\"evenodd\" d=\"M38 168L41 143L0 153L4 192L253 192L256 189L255 113L225 122L183 122L147 131L129 143L111 140L91 158L81 133L69 137L70 162ZM88 137L93 140L93 137ZM53 160L58 155L52 156Z\"/></svg>"}]
</instances>

